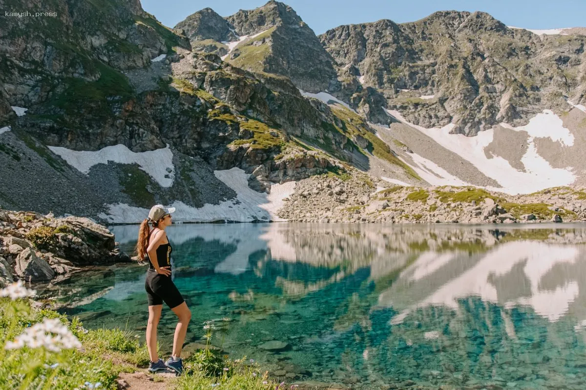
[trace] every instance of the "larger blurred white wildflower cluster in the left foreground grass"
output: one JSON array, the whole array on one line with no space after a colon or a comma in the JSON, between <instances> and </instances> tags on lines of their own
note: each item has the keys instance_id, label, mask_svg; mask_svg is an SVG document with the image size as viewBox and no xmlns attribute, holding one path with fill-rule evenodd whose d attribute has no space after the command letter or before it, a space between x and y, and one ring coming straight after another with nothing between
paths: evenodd
<instances>
[{"instance_id":1,"label":"larger blurred white wildflower cluster in the left foreground grass","mask_svg":"<svg viewBox=\"0 0 586 390\"><path fill-rule=\"evenodd\" d=\"M43 322L26 328L14 341L8 341L5 348L11 350L25 346L60 352L62 349L79 348L81 343L59 319L45 318Z\"/></svg>"}]
</instances>

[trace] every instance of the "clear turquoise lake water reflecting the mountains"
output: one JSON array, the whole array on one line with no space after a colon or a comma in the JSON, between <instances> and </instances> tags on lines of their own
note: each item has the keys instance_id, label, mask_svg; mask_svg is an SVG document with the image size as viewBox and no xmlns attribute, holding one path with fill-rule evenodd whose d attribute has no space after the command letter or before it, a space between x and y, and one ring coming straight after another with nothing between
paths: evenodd
<instances>
[{"instance_id":1,"label":"clear turquoise lake water reflecting the mountains","mask_svg":"<svg viewBox=\"0 0 586 390\"><path fill-rule=\"evenodd\" d=\"M290 382L585 389L586 226L557 227L172 226L174 281L193 313L186 350L215 320L213 344ZM130 251L137 226L112 230ZM144 274L97 269L47 294L88 327L144 340ZM168 351L176 320L163 313ZM270 340L289 347L260 348Z\"/></svg>"}]
</instances>

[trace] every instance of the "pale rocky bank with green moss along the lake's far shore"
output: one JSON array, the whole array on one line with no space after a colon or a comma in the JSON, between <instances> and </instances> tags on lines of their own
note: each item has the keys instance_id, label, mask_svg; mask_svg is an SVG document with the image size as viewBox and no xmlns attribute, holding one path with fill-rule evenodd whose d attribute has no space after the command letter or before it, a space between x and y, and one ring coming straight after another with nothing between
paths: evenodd
<instances>
[{"instance_id":1,"label":"pale rocky bank with green moss along the lake's far shore","mask_svg":"<svg viewBox=\"0 0 586 390\"><path fill-rule=\"evenodd\" d=\"M382 186L386 187L382 187ZM478 187L404 187L361 174L297 182L278 216L291 222L540 223L586 221L584 188L507 195Z\"/></svg>"}]
</instances>

